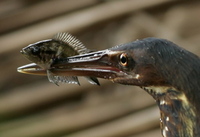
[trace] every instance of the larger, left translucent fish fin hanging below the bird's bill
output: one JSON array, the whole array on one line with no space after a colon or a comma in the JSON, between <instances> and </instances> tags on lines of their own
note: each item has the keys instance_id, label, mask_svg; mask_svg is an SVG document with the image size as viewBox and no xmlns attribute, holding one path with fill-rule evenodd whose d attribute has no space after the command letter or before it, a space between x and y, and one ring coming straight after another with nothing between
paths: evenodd
<instances>
[{"instance_id":1,"label":"larger, left translucent fish fin hanging below the bird's bill","mask_svg":"<svg viewBox=\"0 0 200 137\"><path fill-rule=\"evenodd\" d=\"M58 83L68 83L68 84L78 84L80 85L79 83L79 80L76 76L57 76L57 75L54 75L50 70L47 70L47 76L48 76L48 79L49 79L49 82L52 82L54 84L56 84L57 86Z\"/></svg>"}]
</instances>

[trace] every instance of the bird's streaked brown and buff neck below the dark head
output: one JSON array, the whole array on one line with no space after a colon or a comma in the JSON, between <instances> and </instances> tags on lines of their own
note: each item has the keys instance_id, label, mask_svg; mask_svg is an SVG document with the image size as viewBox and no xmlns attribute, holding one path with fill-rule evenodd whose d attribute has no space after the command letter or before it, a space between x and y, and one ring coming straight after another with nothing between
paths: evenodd
<instances>
[{"instance_id":1,"label":"bird's streaked brown and buff neck below the dark head","mask_svg":"<svg viewBox=\"0 0 200 137\"><path fill-rule=\"evenodd\" d=\"M170 87L145 87L160 109L163 137L194 137L200 135L196 108L184 92Z\"/></svg>"}]
</instances>

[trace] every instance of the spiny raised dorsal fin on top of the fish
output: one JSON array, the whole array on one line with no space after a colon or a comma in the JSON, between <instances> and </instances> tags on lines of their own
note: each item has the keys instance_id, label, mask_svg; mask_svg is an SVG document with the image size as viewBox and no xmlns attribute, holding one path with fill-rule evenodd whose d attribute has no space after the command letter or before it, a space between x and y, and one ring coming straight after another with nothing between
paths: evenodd
<instances>
[{"instance_id":1,"label":"spiny raised dorsal fin on top of the fish","mask_svg":"<svg viewBox=\"0 0 200 137\"><path fill-rule=\"evenodd\" d=\"M88 53L88 49L78 40L76 37L72 36L67 32L57 33L54 37L54 40L62 41L76 50L79 54Z\"/></svg>"}]
</instances>

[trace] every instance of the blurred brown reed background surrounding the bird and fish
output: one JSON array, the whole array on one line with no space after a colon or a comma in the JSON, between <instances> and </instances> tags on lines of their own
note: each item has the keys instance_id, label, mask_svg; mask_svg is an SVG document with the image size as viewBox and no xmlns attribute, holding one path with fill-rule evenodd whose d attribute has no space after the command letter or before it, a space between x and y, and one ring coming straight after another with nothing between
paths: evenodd
<instances>
[{"instance_id":1,"label":"blurred brown reed background surrounding the bird and fish","mask_svg":"<svg viewBox=\"0 0 200 137\"><path fill-rule=\"evenodd\" d=\"M69 32L92 50L145 37L200 55L200 1L1 0L0 137L160 137L159 111L134 86L81 86L17 73L20 50Z\"/></svg>"}]
</instances>

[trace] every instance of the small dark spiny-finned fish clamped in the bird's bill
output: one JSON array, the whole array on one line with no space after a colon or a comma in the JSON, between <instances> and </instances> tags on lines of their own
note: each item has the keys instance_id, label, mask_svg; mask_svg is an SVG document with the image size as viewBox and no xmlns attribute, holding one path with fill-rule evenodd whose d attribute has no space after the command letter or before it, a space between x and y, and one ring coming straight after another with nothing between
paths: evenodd
<instances>
[{"instance_id":1,"label":"small dark spiny-finned fish clamped in the bird's bill","mask_svg":"<svg viewBox=\"0 0 200 137\"><path fill-rule=\"evenodd\" d=\"M22 48L21 54L29 61L37 64L47 71L48 80L56 85L59 82L69 84L79 84L76 76L58 76L51 72L51 65L57 59L67 58L74 55L80 55L91 52L80 40L67 32L60 32L52 39L38 41ZM86 77L86 79L95 85L100 85L96 77Z\"/></svg>"}]
</instances>

